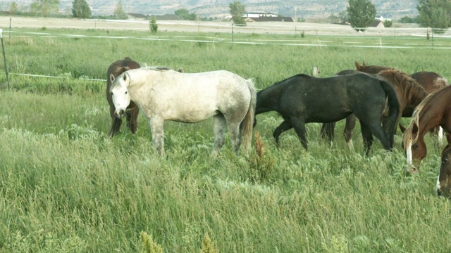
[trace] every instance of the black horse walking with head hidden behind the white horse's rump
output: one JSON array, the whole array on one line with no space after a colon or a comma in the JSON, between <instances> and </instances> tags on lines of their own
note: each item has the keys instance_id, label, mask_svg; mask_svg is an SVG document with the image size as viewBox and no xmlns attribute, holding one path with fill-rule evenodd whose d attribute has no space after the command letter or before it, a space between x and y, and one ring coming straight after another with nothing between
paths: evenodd
<instances>
[{"instance_id":1,"label":"black horse walking with head hidden behind the white horse's rump","mask_svg":"<svg viewBox=\"0 0 451 253\"><path fill-rule=\"evenodd\" d=\"M384 111L386 100L388 112ZM278 112L284 119L273 133L276 144L279 145L280 134L295 128L306 149L306 123L336 122L353 113L359 119L368 155L373 135L386 150L393 148L400 105L390 84L367 74L328 78L297 74L257 93L255 115L269 111ZM381 119L388 126L387 131L383 129Z\"/></svg>"}]
</instances>

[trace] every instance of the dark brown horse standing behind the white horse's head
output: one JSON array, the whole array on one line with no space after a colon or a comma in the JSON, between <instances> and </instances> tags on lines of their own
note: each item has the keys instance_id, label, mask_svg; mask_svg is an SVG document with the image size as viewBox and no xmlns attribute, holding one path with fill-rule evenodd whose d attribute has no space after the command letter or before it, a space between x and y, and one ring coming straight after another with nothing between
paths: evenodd
<instances>
[{"instance_id":1,"label":"dark brown horse standing behind the white horse's head","mask_svg":"<svg viewBox=\"0 0 451 253\"><path fill-rule=\"evenodd\" d=\"M119 74L122 74L125 70L133 70L140 68L140 64L133 61L132 59L125 57L123 60L117 60L114 63L111 63L111 65L108 67L108 70L106 71L106 100L108 100L108 103L110 105L110 116L113 120L111 124L111 129L109 131L110 136L114 136L119 133L119 129L121 129L122 119L119 117L116 117L114 112L114 103L113 98L111 98L110 93L110 87L111 87L111 81L110 81L110 75L113 74L114 77L117 77ZM128 105L127 111L125 112L125 116L127 117L127 126L130 128L130 131L132 131L132 134L136 134L137 130L137 117L140 110L138 109L137 105L133 102L130 102L130 105Z\"/></svg>"}]
</instances>

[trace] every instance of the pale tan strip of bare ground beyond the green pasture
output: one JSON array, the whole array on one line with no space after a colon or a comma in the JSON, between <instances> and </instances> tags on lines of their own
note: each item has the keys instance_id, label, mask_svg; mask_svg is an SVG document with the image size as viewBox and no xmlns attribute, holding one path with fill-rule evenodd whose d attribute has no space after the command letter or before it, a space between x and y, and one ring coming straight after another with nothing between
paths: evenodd
<instances>
[{"instance_id":1,"label":"pale tan strip of bare ground beyond the green pasture","mask_svg":"<svg viewBox=\"0 0 451 253\"><path fill-rule=\"evenodd\" d=\"M421 36L451 37L451 32L431 34L431 28L416 25L395 24L395 27L364 27L365 32L356 32L350 25L321 24L310 22L247 22L245 26L234 25L226 21L187 21L156 20L159 31L170 32L219 32L219 33L254 33L254 34L304 34L315 36ZM149 20L97 20L97 19L61 19L33 17L1 17L0 27L11 28L70 28L94 30L135 30L149 32ZM125 34L126 35L126 34Z\"/></svg>"}]
</instances>

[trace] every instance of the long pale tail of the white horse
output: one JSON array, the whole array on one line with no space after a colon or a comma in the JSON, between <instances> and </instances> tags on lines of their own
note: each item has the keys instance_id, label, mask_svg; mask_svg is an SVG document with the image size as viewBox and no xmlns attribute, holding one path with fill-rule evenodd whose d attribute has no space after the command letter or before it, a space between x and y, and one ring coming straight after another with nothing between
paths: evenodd
<instances>
[{"instance_id":1,"label":"long pale tail of the white horse","mask_svg":"<svg viewBox=\"0 0 451 253\"><path fill-rule=\"evenodd\" d=\"M242 150L245 153L249 151L252 145L252 129L255 118L255 106L257 104L257 91L255 90L254 82L252 82L252 79L247 79L246 83L251 93L251 102L249 103L246 116L240 124Z\"/></svg>"}]
</instances>

